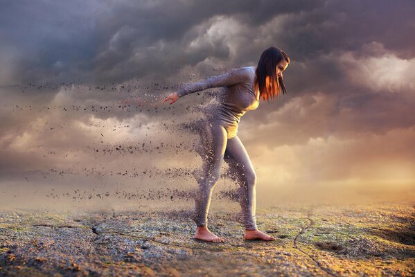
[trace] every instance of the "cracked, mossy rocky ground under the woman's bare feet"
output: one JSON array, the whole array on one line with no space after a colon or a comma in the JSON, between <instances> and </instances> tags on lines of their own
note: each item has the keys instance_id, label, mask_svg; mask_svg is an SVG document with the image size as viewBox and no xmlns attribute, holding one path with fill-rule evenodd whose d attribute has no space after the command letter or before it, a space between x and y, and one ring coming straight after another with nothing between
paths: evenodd
<instances>
[{"instance_id":1,"label":"cracked, mossy rocky ground under the woman's bare feet","mask_svg":"<svg viewBox=\"0 0 415 277\"><path fill-rule=\"evenodd\" d=\"M186 211L0 212L0 276L414 276L415 206L273 206L257 210L274 242L209 215L224 243L193 239Z\"/></svg>"}]
</instances>

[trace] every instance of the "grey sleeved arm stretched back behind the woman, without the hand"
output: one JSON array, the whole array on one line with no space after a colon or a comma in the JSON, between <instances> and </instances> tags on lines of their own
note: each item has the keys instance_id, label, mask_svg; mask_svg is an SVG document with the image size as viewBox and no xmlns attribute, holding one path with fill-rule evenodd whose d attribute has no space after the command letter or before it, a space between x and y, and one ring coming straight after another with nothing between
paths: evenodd
<instances>
[{"instance_id":1,"label":"grey sleeved arm stretched back behind the woman, without the hand","mask_svg":"<svg viewBox=\"0 0 415 277\"><path fill-rule=\"evenodd\" d=\"M247 68L232 69L228 73L213 76L200 82L184 84L182 88L177 91L177 96L180 98L189 93L204 91L205 89L211 89L213 87L230 87L234 84L246 82L250 77L250 71Z\"/></svg>"}]
</instances>

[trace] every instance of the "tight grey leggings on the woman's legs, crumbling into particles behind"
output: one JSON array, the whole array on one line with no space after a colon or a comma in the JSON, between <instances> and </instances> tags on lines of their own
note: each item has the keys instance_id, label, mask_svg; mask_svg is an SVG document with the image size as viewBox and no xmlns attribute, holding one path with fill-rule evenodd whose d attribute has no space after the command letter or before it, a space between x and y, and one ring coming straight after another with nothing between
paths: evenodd
<instances>
[{"instance_id":1,"label":"tight grey leggings on the woman's legs, crumbling into particles behind","mask_svg":"<svg viewBox=\"0 0 415 277\"><path fill-rule=\"evenodd\" d=\"M213 188L219 179L222 161L226 161L231 175L240 184L239 201L245 229L256 229L256 174L244 145L238 136L227 139L227 130L218 123L208 125L201 136L201 144L202 149L198 152L202 156L202 175L197 181L199 186L195 195L193 220L197 226L207 224Z\"/></svg>"}]
</instances>

